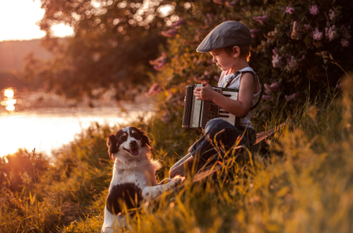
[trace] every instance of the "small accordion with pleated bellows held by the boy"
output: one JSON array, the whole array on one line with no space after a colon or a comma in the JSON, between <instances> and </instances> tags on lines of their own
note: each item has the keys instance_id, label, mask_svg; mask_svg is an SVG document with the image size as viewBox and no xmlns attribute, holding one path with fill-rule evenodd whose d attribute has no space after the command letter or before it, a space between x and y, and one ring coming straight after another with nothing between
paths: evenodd
<instances>
[{"instance_id":1,"label":"small accordion with pleated bellows held by the boy","mask_svg":"<svg viewBox=\"0 0 353 233\"><path fill-rule=\"evenodd\" d=\"M193 95L193 90L198 87L203 87L202 84L188 85L186 87L184 117L183 117L183 128L200 130L205 128L208 121L215 118L224 119L230 124L237 126L239 125L239 118L233 114L221 109L217 104L212 101L196 100L196 96ZM232 100L238 100L237 89L232 88L218 88L213 86L213 90L220 92L222 95L231 98Z\"/></svg>"}]
</instances>

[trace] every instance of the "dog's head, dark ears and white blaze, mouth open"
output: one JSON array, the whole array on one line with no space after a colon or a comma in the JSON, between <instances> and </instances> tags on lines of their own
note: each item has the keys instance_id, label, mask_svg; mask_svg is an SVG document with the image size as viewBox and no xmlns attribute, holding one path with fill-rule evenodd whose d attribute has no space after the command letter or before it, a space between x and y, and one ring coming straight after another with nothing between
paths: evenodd
<instances>
[{"instance_id":1,"label":"dog's head, dark ears and white blaze, mouth open","mask_svg":"<svg viewBox=\"0 0 353 233\"><path fill-rule=\"evenodd\" d=\"M114 161L114 154L138 157L142 150L150 150L151 141L146 133L135 127L124 127L108 136L107 146L109 157Z\"/></svg>"}]
</instances>

